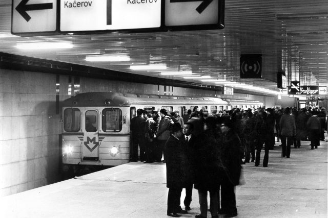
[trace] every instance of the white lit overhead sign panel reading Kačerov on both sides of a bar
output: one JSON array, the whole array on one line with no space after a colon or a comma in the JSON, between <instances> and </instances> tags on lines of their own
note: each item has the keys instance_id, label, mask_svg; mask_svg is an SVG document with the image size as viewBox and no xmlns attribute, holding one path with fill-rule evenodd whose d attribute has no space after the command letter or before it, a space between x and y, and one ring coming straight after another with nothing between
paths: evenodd
<instances>
[{"instance_id":1,"label":"white lit overhead sign panel reading Ka\u010derov on both sides of a bar","mask_svg":"<svg viewBox=\"0 0 328 218\"><path fill-rule=\"evenodd\" d=\"M161 0L61 0L60 31L159 28Z\"/></svg>"}]
</instances>

